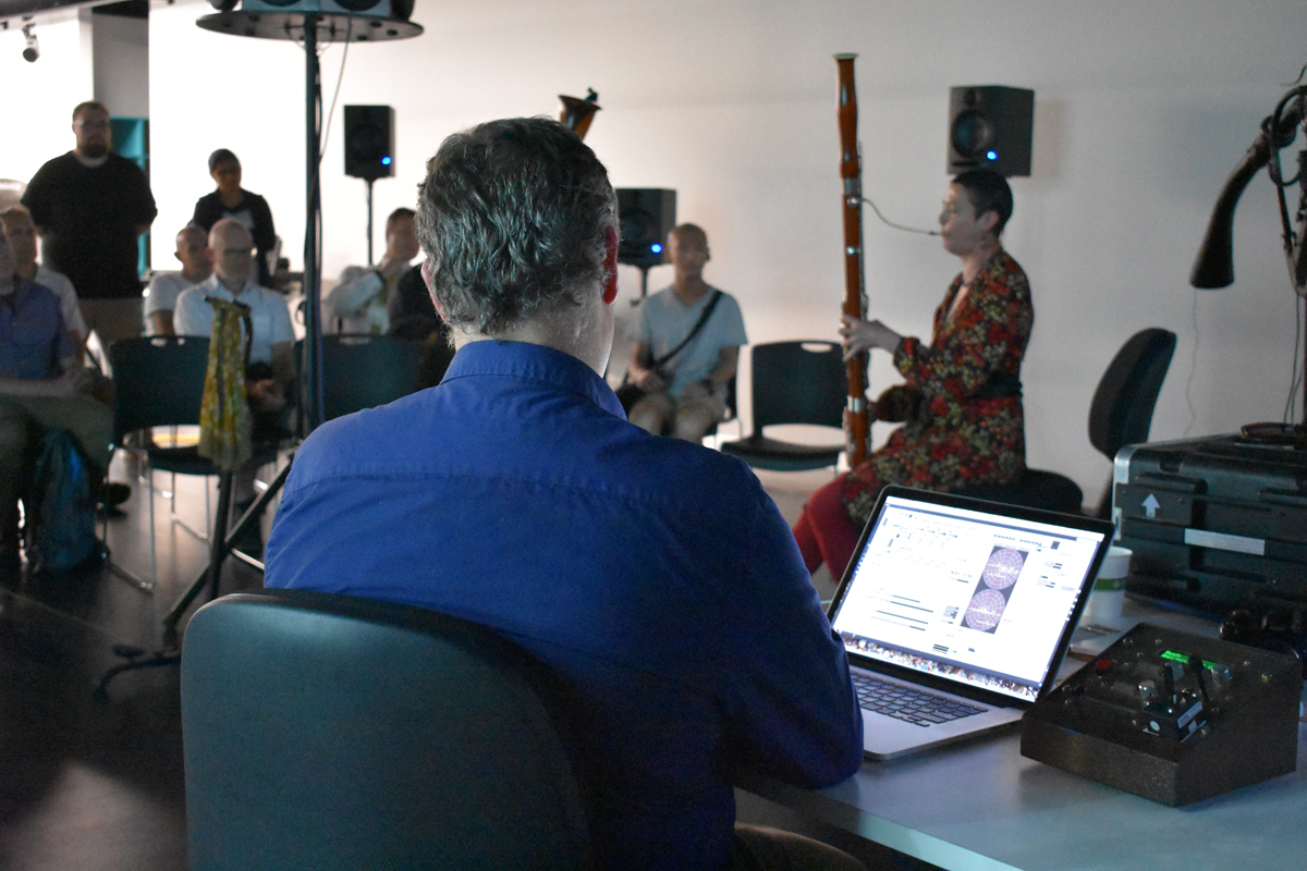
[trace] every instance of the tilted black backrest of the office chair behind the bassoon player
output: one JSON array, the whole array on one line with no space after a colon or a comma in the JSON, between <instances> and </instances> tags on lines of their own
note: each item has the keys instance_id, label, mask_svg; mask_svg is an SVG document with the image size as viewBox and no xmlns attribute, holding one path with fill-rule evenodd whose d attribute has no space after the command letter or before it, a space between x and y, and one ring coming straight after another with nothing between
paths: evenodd
<instances>
[{"instance_id":1,"label":"tilted black backrest of the office chair behind the bassoon player","mask_svg":"<svg viewBox=\"0 0 1307 871\"><path fill-rule=\"evenodd\" d=\"M1089 406L1089 441L1108 460L1148 441L1153 409L1175 353L1175 333L1150 328L1131 336L1103 372Z\"/></svg>"}]
</instances>

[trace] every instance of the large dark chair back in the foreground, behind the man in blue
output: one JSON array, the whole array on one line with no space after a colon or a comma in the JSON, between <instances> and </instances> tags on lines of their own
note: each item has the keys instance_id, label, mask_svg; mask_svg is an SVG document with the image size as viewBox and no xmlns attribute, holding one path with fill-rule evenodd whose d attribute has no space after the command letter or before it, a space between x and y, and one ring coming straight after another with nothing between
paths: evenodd
<instances>
[{"instance_id":1,"label":"large dark chair back in the foreground, behind the man in blue","mask_svg":"<svg viewBox=\"0 0 1307 871\"><path fill-rule=\"evenodd\" d=\"M210 602L182 656L191 868L591 867L552 682L426 609Z\"/></svg>"}]
</instances>

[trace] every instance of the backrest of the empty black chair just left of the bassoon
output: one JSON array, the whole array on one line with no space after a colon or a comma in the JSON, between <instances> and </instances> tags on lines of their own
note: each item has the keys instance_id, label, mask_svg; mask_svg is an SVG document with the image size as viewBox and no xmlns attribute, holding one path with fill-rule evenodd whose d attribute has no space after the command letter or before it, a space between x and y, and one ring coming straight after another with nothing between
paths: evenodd
<instances>
[{"instance_id":1,"label":"backrest of the empty black chair just left of the bassoon","mask_svg":"<svg viewBox=\"0 0 1307 871\"><path fill-rule=\"evenodd\" d=\"M753 431L774 423L844 424L848 373L836 342L769 342L750 349Z\"/></svg>"}]
</instances>

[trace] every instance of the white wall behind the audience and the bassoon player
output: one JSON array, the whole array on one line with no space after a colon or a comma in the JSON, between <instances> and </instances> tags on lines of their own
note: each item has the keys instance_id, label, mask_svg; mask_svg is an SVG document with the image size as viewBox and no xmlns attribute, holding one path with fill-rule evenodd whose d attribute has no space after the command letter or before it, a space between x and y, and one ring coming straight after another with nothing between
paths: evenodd
<instances>
[{"instance_id":1,"label":"white wall behind the audience and the bassoon player","mask_svg":"<svg viewBox=\"0 0 1307 871\"><path fill-rule=\"evenodd\" d=\"M231 148L298 266L303 56L197 29L209 12L199 0L152 9L156 236L170 244L212 187L205 157ZM1155 439L1282 413L1300 316L1264 175L1239 208L1235 286L1196 294L1187 276L1222 182L1307 60L1300 0L421 0L413 20L426 29L417 39L353 44L340 87L339 106L396 110L397 176L376 183L379 217L413 201L447 133L555 115L559 93L595 87L604 108L587 142L616 185L677 189L678 218L708 230L708 277L740 298L750 337L831 337L843 296L831 55L859 52L867 195L918 226L933 225L946 183L949 87L1031 87L1034 171L1013 180L1005 239L1035 294L1031 465L1097 498L1108 464L1086 437L1089 400L1111 354L1144 326L1180 336ZM0 34L5 71L21 51L10 43ZM328 103L342 54L323 54ZM67 89L50 98L61 115L74 102ZM366 259L363 183L342 175L339 106L323 163L328 277ZM65 120L44 140L44 127L31 129L41 154L68 146ZM925 333L957 261L870 214L865 238L872 313ZM169 251L157 247L156 261ZM651 285L665 281L665 269L651 273ZM622 282L633 295L638 272ZM873 389L890 380L877 358Z\"/></svg>"}]
</instances>

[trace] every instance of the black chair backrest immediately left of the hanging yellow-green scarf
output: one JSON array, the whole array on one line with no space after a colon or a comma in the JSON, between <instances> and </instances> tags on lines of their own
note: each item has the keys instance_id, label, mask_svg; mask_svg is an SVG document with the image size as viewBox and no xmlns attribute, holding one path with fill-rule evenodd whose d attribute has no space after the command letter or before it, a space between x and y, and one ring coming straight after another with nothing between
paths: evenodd
<instances>
[{"instance_id":1,"label":"black chair backrest immediately left of the hanging yellow-green scarf","mask_svg":"<svg viewBox=\"0 0 1307 871\"><path fill-rule=\"evenodd\" d=\"M114 371L114 440L149 427L200 423L209 340L197 336L122 338L108 346Z\"/></svg>"}]
</instances>

